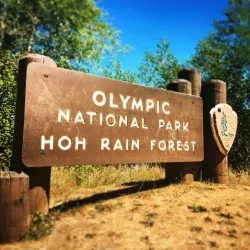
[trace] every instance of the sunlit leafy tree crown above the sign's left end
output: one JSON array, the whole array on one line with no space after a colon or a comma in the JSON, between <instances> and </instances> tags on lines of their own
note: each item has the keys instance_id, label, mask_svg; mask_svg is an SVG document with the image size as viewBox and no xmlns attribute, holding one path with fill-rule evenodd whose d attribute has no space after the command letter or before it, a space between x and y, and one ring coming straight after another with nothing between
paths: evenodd
<instances>
[{"instance_id":1,"label":"sunlit leafy tree crown above the sign's left end","mask_svg":"<svg viewBox=\"0 0 250 250\"><path fill-rule=\"evenodd\" d=\"M87 71L119 45L119 33L93 0L0 0L0 49L34 52Z\"/></svg>"}]
</instances>

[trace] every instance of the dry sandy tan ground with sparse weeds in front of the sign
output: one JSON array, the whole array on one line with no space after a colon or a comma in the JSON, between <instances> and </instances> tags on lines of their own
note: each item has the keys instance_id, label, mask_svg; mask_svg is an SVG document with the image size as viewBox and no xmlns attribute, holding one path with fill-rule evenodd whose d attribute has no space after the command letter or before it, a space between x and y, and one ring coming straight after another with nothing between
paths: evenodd
<instances>
[{"instance_id":1,"label":"dry sandy tan ground with sparse weeds in front of the sign","mask_svg":"<svg viewBox=\"0 0 250 250\"><path fill-rule=\"evenodd\" d=\"M61 215L49 236L0 249L250 249L250 186L148 181L82 191L54 208Z\"/></svg>"}]
</instances>

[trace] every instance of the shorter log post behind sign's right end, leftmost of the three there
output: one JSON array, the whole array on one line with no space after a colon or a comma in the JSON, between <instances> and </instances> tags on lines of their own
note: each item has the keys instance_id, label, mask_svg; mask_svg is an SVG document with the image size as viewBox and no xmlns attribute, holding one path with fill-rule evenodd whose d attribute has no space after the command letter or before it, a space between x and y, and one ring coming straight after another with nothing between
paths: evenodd
<instances>
[{"instance_id":1,"label":"shorter log post behind sign's right end, leftmost of the three there","mask_svg":"<svg viewBox=\"0 0 250 250\"><path fill-rule=\"evenodd\" d=\"M180 93L191 95L191 82L178 79L167 85L167 89ZM194 181L194 169L192 163L167 163L165 165L166 180L169 183L183 181L184 184L190 184Z\"/></svg>"}]
</instances>

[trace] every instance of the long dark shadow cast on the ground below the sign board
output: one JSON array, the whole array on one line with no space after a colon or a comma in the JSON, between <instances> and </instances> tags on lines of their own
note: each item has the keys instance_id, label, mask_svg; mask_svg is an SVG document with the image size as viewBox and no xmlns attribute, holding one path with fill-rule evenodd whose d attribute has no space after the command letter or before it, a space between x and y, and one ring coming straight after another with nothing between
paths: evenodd
<instances>
[{"instance_id":1,"label":"long dark shadow cast on the ground below the sign board","mask_svg":"<svg viewBox=\"0 0 250 250\"><path fill-rule=\"evenodd\" d=\"M123 186L126 186L126 188L115 190L115 191L109 191L105 193L99 193L92 195L87 198L83 199L77 199L73 201L66 202L62 205L58 205L50 209L50 212L66 212L70 209L73 209L78 206L84 206L87 204L93 204L100 201L115 199L121 196L135 194L151 189L156 188L163 188L168 186L169 184L166 182L165 179L157 180L157 181L139 181L139 182L128 182L124 183Z\"/></svg>"}]
</instances>

